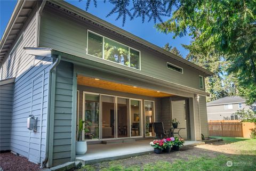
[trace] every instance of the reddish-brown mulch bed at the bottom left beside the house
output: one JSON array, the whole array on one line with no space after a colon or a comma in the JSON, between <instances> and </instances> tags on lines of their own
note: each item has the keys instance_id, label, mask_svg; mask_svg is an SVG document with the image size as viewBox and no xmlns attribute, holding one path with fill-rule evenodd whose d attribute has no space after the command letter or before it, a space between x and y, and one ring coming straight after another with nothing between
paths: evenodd
<instances>
[{"instance_id":1,"label":"reddish-brown mulch bed at the bottom left beside the house","mask_svg":"<svg viewBox=\"0 0 256 171\"><path fill-rule=\"evenodd\" d=\"M4 171L37 171L40 166L28 161L27 158L15 156L11 152L0 153L0 167Z\"/></svg>"}]
</instances>

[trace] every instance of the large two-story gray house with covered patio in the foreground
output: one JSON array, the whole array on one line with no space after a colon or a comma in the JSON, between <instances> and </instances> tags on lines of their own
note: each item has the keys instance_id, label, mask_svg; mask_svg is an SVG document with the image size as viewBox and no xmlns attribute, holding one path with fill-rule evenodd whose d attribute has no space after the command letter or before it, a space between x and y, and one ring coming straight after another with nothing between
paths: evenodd
<instances>
[{"instance_id":1,"label":"large two-story gray house with covered patio in the foreground","mask_svg":"<svg viewBox=\"0 0 256 171\"><path fill-rule=\"evenodd\" d=\"M209 136L212 72L67 2L19 1L0 47L1 151L47 167L74 161L79 119L90 143L154 136L150 123L172 118L186 140Z\"/></svg>"}]
</instances>

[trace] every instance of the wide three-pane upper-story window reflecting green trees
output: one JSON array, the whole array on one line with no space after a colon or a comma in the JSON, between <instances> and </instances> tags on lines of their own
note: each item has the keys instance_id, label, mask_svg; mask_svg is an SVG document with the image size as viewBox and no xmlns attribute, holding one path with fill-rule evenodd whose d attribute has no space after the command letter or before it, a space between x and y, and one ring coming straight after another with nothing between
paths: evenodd
<instances>
[{"instance_id":1,"label":"wide three-pane upper-story window reflecting green trees","mask_svg":"<svg viewBox=\"0 0 256 171\"><path fill-rule=\"evenodd\" d=\"M87 54L140 69L140 51L88 30Z\"/></svg>"}]
</instances>

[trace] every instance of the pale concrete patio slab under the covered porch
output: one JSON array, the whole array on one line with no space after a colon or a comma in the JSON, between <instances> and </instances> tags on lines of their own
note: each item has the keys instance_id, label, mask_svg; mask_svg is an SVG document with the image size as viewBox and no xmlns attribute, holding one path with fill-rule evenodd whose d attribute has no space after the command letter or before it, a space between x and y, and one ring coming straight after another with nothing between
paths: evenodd
<instances>
[{"instance_id":1,"label":"pale concrete patio slab under the covered porch","mask_svg":"<svg viewBox=\"0 0 256 171\"><path fill-rule=\"evenodd\" d=\"M141 156L153 152L149 145L150 140L139 140L135 142L125 142L119 144L93 144L87 145L87 152L84 155L76 156L76 161L85 164L95 164L103 161L117 160ZM202 145L200 141L185 141L184 145Z\"/></svg>"}]
</instances>

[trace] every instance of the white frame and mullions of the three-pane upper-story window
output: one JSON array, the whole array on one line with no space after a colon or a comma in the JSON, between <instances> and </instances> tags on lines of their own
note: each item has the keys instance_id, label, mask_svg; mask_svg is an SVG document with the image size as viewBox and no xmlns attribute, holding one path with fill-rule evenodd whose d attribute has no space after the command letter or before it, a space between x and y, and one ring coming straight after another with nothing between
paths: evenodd
<instances>
[{"instance_id":1,"label":"white frame and mullions of the three-pane upper-story window","mask_svg":"<svg viewBox=\"0 0 256 171\"><path fill-rule=\"evenodd\" d=\"M98 35L98 36L101 36L101 37L102 37L102 58L100 58L100 57L98 57L98 56L91 55L91 54L88 53L88 33L89 33L89 32L91 32L91 33L93 33L93 34L95 34L95 35ZM106 60L106 61L109 61L109 62L117 63L117 62L114 62L114 61L110 61L110 60L105 59L105 53L104 53L105 38L110 39L110 40L112 40L112 41L114 41L114 42L116 42L116 43L119 43L119 44L121 44L121 45L127 46L127 45L125 45L125 44L123 44L123 43L120 43L120 42L117 42L116 40L113 40L113 39L111 39L111 38L109 38L109 37L102 36L102 35L98 34L97 32L94 32L94 31L91 31L91 30L87 29L86 55L90 55L90 56L93 56L93 57L96 57L96 58L99 58L99 59L103 59L103 60ZM119 64L119 65L121 65L121 66L128 67L128 68L137 69L137 68L130 67L130 66L131 66L131 63L130 63L130 49L132 49L132 50L135 50L135 51L138 51L138 52L139 52L139 69L137 69L137 70L141 70L141 52L140 52L139 50L133 48L133 47L130 47L130 46L127 46L127 47L129 48L129 54L128 54L128 55L129 55L129 66L126 66L126 65L124 65L124 64L122 64L122 63L117 63L117 64ZM183 69L182 69L182 72L183 72Z\"/></svg>"}]
</instances>

